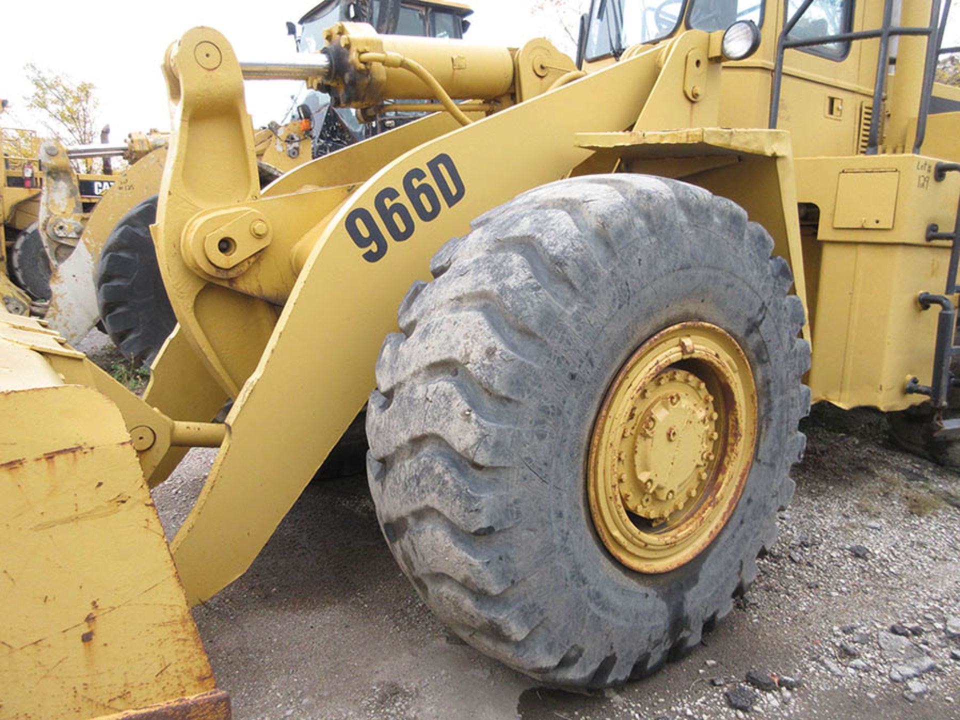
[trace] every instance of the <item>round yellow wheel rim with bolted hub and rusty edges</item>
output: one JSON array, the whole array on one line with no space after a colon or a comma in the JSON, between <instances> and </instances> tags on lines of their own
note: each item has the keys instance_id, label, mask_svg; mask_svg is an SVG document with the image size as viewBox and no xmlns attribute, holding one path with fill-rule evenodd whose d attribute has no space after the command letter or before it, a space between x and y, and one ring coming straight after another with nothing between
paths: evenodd
<instances>
[{"instance_id":1,"label":"round yellow wheel rim with bolted hub and rusty edges","mask_svg":"<svg viewBox=\"0 0 960 720\"><path fill-rule=\"evenodd\" d=\"M590 514L622 564L666 572L723 529L754 459L756 385L720 327L676 324L636 350L593 426Z\"/></svg>"}]
</instances>

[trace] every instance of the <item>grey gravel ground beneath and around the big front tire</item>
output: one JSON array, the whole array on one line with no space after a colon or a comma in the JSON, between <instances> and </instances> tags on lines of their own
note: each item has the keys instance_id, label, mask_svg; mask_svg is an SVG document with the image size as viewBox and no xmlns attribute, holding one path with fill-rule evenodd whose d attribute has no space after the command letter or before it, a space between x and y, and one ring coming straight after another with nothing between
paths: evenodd
<instances>
[{"instance_id":1,"label":"grey gravel ground beneath and around the big front tire","mask_svg":"<svg viewBox=\"0 0 960 720\"><path fill-rule=\"evenodd\" d=\"M380 537L366 479L348 477L312 483L194 611L218 682L240 719L960 718L960 475L893 447L878 413L818 406L804 431L755 585L647 680L551 690L447 633ZM192 450L156 489L168 535L212 460Z\"/></svg>"}]
</instances>

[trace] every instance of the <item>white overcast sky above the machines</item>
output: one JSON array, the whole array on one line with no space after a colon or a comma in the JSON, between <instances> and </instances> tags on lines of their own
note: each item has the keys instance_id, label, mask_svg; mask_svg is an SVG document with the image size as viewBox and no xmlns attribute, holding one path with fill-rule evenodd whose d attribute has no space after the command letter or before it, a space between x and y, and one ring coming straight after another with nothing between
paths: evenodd
<instances>
[{"instance_id":1,"label":"white overcast sky above the machines","mask_svg":"<svg viewBox=\"0 0 960 720\"><path fill-rule=\"evenodd\" d=\"M150 128L168 130L166 88L159 65L170 42L196 25L224 33L241 60L293 55L284 23L298 20L319 0L0 0L0 97L12 112L0 124L37 127L26 111L30 92L23 65L33 62L55 73L96 85L100 123L109 123L111 140ZM953 0L960 6L958 0ZM535 16L536 0L473 0L468 38L519 45L535 36L565 40L553 14ZM588 0L583 0L588 6ZM951 12L950 36L960 33L960 7ZM576 33L576 29L572 29ZM568 49L568 48L567 48ZM568 49L569 51L569 49ZM247 83L247 107L255 126L279 121L299 88L290 82Z\"/></svg>"}]
</instances>

